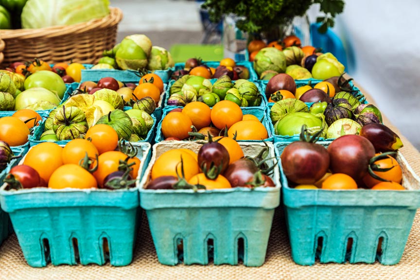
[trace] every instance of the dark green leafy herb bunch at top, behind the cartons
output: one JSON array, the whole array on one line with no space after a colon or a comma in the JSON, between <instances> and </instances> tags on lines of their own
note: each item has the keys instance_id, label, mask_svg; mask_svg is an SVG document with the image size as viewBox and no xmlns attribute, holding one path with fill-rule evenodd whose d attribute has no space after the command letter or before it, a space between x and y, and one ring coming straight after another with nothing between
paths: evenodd
<instances>
[{"instance_id":1,"label":"dark green leafy herb bunch at top, behind the cartons","mask_svg":"<svg viewBox=\"0 0 420 280\"><path fill-rule=\"evenodd\" d=\"M316 22L321 23L319 32L325 33L328 27L334 26L335 16L343 12L343 0L206 0L202 7L209 10L210 19L215 22L228 14L244 17L237 22L237 27L251 34L289 25L316 3L324 14L316 18Z\"/></svg>"}]
</instances>

